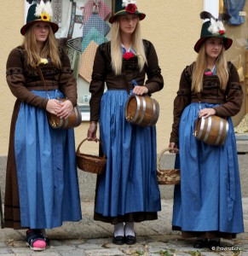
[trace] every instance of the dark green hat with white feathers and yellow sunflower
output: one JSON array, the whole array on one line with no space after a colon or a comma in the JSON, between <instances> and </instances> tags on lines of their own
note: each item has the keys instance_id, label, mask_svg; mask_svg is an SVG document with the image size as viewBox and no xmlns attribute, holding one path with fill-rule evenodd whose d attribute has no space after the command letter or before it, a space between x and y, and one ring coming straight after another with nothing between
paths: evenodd
<instances>
[{"instance_id":1,"label":"dark green hat with white feathers and yellow sunflower","mask_svg":"<svg viewBox=\"0 0 248 256\"><path fill-rule=\"evenodd\" d=\"M48 22L49 25L52 27L53 32L57 32L59 26L51 21L53 16L53 9L51 7L51 3L48 1L46 3L43 0L40 3L32 4L31 7L28 9L27 16L26 16L26 25L22 26L20 29L20 33L24 36L26 30L32 26L32 24L44 21Z\"/></svg>"}]
</instances>

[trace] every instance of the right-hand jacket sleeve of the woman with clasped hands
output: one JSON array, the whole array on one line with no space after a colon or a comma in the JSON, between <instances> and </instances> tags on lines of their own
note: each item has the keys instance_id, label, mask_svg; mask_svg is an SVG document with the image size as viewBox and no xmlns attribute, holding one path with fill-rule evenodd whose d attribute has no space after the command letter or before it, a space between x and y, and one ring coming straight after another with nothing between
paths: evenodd
<instances>
[{"instance_id":1,"label":"right-hand jacket sleeve of the woman with clasped hands","mask_svg":"<svg viewBox=\"0 0 248 256\"><path fill-rule=\"evenodd\" d=\"M65 94L66 98L72 102L72 105L76 106L78 97L77 83L72 74L69 58L63 49L61 49L61 51L62 67L59 80L60 90Z\"/></svg>"}]
</instances>

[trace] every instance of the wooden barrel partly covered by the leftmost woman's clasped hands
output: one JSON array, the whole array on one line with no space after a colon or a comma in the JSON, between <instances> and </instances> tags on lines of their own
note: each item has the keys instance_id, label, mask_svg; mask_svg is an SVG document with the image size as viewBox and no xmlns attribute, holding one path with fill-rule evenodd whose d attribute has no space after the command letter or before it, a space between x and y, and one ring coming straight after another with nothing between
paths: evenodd
<instances>
[{"instance_id":1,"label":"wooden barrel partly covered by the leftmost woman's clasped hands","mask_svg":"<svg viewBox=\"0 0 248 256\"><path fill-rule=\"evenodd\" d=\"M62 102L65 99L61 99ZM77 127L82 122L81 111L78 106L73 108L72 113L66 119L61 119L53 113L47 112L49 125L51 125L54 129L70 129L73 127Z\"/></svg>"}]
</instances>

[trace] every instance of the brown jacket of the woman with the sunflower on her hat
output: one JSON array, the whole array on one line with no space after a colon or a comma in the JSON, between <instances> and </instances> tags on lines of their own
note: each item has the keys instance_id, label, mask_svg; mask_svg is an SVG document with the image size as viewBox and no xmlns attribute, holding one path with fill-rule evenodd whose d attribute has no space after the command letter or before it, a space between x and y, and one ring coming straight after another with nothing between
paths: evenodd
<instances>
[{"instance_id":1,"label":"brown jacket of the woman with the sunflower on her hat","mask_svg":"<svg viewBox=\"0 0 248 256\"><path fill-rule=\"evenodd\" d=\"M60 89L73 106L77 105L77 84L72 76L68 56L60 49L61 70L51 63L40 65L48 90ZM37 108L46 108L48 99L32 94L30 90L44 90L37 70L26 64L25 53L21 47L13 49L7 61L7 82L11 92L20 102Z\"/></svg>"}]
</instances>

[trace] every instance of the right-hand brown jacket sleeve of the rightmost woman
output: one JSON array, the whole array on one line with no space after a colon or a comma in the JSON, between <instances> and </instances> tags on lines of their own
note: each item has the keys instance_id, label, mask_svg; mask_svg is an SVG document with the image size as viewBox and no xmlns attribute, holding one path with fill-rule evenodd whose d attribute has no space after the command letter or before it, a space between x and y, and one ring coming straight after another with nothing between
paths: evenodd
<instances>
[{"instance_id":1,"label":"right-hand brown jacket sleeve of the rightmost woman","mask_svg":"<svg viewBox=\"0 0 248 256\"><path fill-rule=\"evenodd\" d=\"M216 115L226 118L239 113L242 106L244 93L239 84L239 74L234 64L229 62L229 79L226 89L226 102L221 106L214 108Z\"/></svg>"}]
</instances>

